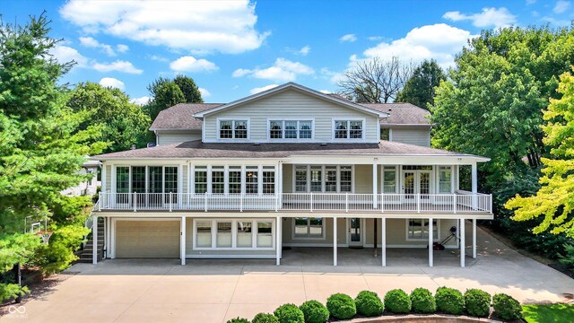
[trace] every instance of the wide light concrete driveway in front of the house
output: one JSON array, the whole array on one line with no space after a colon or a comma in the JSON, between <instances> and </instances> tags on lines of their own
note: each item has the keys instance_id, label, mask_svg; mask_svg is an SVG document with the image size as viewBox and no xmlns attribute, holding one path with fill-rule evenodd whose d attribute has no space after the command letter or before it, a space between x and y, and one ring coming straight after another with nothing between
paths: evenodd
<instances>
[{"instance_id":1,"label":"wide light concrete driveway in front of the house","mask_svg":"<svg viewBox=\"0 0 574 323\"><path fill-rule=\"evenodd\" d=\"M574 292L570 277L521 256L487 232L479 229L478 241L478 259L467 258L465 268L457 266L456 252L435 252L435 266L428 267L426 250L413 249L389 249L385 268L372 250L349 249L340 249L342 266L336 267L327 265L329 249L285 251L282 266L274 266L274 260L193 259L187 266L177 259L78 264L70 268L78 275L23 303L25 311L9 313L4 307L0 322L225 322L252 319L286 302L325 302L335 292L354 297L370 290L383 296L394 288L482 288L519 301L563 301L562 293Z\"/></svg>"}]
</instances>

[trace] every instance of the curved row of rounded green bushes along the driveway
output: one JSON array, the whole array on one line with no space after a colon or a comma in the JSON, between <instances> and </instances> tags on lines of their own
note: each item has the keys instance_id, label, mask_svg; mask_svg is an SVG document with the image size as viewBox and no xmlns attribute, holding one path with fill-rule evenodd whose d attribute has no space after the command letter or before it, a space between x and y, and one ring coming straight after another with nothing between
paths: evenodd
<instances>
[{"instance_id":1,"label":"curved row of rounded green bushes along the driveway","mask_svg":"<svg viewBox=\"0 0 574 323\"><path fill-rule=\"evenodd\" d=\"M274 314L259 313L251 321L237 318L227 323L325 323L329 318L352 319L357 314L375 317L383 312L468 314L488 318L491 305L499 319L522 318L520 303L507 294L498 293L491 298L491 294L479 289L469 289L463 294L453 288L439 287L434 296L426 288L414 289L410 295L395 289L387 292L384 301L376 292L370 291L359 292L354 300L344 293L335 293L327 299L326 306L319 301L305 301L300 307L283 304Z\"/></svg>"}]
</instances>

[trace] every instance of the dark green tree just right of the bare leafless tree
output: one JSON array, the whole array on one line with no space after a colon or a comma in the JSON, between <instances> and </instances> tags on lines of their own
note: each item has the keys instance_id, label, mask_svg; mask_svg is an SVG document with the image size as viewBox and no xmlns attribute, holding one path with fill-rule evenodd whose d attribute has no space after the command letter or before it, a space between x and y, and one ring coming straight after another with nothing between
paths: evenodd
<instances>
[{"instance_id":1,"label":"dark green tree just right of the bare leafless tree","mask_svg":"<svg viewBox=\"0 0 574 323\"><path fill-rule=\"evenodd\" d=\"M403 90L398 92L396 101L409 102L422 109L429 109L428 104L434 103L435 88L440 85L440 81L446 79L447 75L437 61L425 60L414 69Z\"/></svg>"}]
</instances>

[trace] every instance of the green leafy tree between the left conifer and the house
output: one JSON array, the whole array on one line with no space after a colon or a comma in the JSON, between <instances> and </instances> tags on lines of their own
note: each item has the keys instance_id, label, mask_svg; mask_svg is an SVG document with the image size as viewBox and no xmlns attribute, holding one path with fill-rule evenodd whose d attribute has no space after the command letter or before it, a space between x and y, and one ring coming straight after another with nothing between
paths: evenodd
<instances>
[{"instance_id":1,"label":"green leafy tree between the left conifer and the house","mask_svg":"<svg viewBox=\"0 0 574 323\"><path fill-rule=\"evenodd\" d=\"M74 111L88 114L80 129L102 126L101 140L110 144L105 153L126 150L132 144L145 145L152 121L119 89L105 88L98 83L80 83L72 91L67 104Z\"/></svg>"}]
</instances>

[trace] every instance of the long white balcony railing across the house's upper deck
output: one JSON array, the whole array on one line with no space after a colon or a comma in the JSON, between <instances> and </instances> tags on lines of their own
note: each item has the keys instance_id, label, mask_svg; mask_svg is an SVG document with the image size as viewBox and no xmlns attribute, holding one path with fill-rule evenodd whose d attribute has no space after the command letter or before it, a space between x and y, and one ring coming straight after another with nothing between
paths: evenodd
<instances>
[{"instance_id":1,"label":"long white balcony railing across the house's upper deck","mask_svg":"<svg viewBox=\"0 0 574 323\"><path fill-rule=\"evenodd\" d=\"M284 193L278 196L190 193L100 193L99 210L114 211L340 211L488 213L492 196L459 194Z\"/></svg>"}]
</instances>

